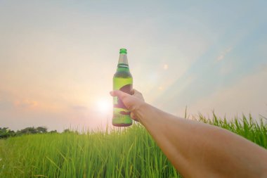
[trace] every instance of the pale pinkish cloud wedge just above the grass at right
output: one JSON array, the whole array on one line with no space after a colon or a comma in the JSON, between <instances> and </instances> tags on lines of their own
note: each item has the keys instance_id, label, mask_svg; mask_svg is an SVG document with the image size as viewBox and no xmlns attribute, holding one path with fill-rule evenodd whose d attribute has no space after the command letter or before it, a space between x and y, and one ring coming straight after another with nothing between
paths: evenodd
<instances>
[{"instance_id":1,"label":"pale pinkish cloud wedge just above the grass at right","mask_svg":"<svg viewBox=\"0 0 267 178\"><path fill-rule=\"evenodd\" d=\"M215 113L228 118L235 115L251 113L256 119L259 114L267 115L267 93L266 84L267 70L259 70L252 75L244 77L231 87L220 89L207 98L188 106L189 113L203 115ZM181 110L181 112L184 112Z\"/></svg>"}]
</instances>

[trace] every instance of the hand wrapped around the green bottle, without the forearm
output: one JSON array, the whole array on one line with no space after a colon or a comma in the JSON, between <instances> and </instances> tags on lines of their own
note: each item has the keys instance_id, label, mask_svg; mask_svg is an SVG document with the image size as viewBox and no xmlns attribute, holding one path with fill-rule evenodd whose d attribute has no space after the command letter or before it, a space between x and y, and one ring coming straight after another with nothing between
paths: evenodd
<instances>
[{"instance_id":1,"label":"hand wrapped around the green bottle, without the forearm","mask_svg":"<svg viewBox=\"0 0 267 178\"><path fill-rule=\"evenodd\" d=\"M131 111L131 118L139 121L136 116L136 111L145 103L143 95L139 91L133 89L132 95L130 95L124 93L123 91L115 90L110 91L110 95L119 97L122 100L122 103L124 103L124 106Z\"/></svg>"}]
</instances>

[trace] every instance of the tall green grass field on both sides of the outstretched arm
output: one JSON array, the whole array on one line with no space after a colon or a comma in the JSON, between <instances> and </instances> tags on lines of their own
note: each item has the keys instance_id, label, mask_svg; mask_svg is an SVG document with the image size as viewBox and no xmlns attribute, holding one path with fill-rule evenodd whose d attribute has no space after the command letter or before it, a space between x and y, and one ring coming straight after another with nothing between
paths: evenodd
<instances>
[{"instance_id":1,"label":"tall green grass field on both sides of the outstretched arm","mask_svg":"<svg viewBox=\"0 0 267 178\"><path fill-rule=\"evenodd\" d=\"M207 122L267 148L266 120ZM183 144L183 143L181 143ZM181 177L141 125L103 132L32 134L0 140L0 177Z\"/></svg>"}]
</instances>

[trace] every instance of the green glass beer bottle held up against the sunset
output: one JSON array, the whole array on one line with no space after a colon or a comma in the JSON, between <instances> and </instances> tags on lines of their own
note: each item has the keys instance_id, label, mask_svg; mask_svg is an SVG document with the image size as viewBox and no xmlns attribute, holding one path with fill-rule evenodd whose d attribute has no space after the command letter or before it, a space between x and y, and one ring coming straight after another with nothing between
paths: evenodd
<instances>
[{"instance_id":1,"label":"green glass beer bottle held up against the sunset","mask_svg":"<svg viewBox=\"0 0 267 178\"><path fill-rule=\"evenodd\" d=\"M119 50L119 62L117 71L113 76L113 90L121 90L131 94L133 89L133 77L129 70L126 49ZM127 127L132 125L130 111L126 109L124 103L116 96L113 98L112 125L117 127Z\"/></svg>"}]
</instances>

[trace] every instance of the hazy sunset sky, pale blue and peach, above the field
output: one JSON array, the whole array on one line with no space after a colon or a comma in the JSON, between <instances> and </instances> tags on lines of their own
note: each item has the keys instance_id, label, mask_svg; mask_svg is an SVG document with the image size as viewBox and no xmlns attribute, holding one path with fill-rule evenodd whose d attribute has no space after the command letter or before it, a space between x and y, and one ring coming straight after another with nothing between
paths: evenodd
<instances>
[{"instance_id":1,"label":"hazy sunset sky, pale blue and peach, above the field","mask_svg":"<svg viewBox=\"0 0 267 178\"><path fill-rule=\"evenodd\" d=\"M110 125L120 48L159 109L267 117L267 1L0 0L0 127Z\"/></svg>"}]
</instances>

